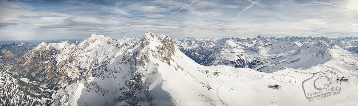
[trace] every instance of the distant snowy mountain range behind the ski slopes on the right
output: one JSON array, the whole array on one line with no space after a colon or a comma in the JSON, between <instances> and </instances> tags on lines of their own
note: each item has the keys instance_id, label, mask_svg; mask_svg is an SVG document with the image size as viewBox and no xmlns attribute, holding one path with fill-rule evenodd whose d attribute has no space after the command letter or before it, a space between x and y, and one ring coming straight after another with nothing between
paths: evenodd
<instances>
[{"instance_id":1,"label":"distant snowy mountain range behind the ski slopes on the right","mask_svg":"<svg viewBox=\"0 0 358 106\"><path fill-rule=\"evenodd\" d=\"M224 39L178 39L175 44L180 50L201 65L226 65L245 67L263 72L274 72L282 67L308 69L311 66L327 61L339 61L353 64L352 61L342 61L318 55L334 55L325 52L334 49L339 55L347 58L357 57L352 52L357 51L357 37L263 37L256 38L224 38ZM350 52L349 52L350 51ZM315 56L313 56L315 55ZM316 56L317 55L317 56ZM313 58L316 57L316 58ZM316 60L316 61L314 61ZM308 62L308 61L311 61ZM300 63L300 62L303 62ZM308 63L308 64L307 64ZM301 64L301 65L299 65Z\"/></svg>"}]
</instances>

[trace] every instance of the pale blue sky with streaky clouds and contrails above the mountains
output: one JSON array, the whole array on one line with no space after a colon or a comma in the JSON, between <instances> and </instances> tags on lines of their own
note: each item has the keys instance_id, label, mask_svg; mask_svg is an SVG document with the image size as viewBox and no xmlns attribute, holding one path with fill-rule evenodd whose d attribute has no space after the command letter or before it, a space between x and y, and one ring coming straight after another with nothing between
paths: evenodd
<instances>
[{"instance_id":1,"label":"pale blue sky with streaky clouds and contrails above the mountains","mask_svg":"<svg viewBox=\"0 0 358 106\"><path fill-rule=\"evenodd\" d=\"M0 0L0 41L358 36L358 0Z\"/></svg>"}]
</instances>

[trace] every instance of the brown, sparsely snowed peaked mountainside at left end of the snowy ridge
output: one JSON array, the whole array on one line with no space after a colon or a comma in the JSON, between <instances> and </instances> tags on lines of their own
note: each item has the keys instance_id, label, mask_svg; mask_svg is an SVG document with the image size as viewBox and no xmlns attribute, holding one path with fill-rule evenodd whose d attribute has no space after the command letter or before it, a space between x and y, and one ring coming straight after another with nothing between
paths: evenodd
<instances>
[{"instance_id":1,"label":"brown, sparsely snowed peaked mountainside at left end of the snowy ridge","mask_svg":"<svg viewBox=\"0 0 358 106\"><path fill-rule=\"evenodd\" d=\"M66 73L59 70L62 65L57 65L55 60L55 56L60 54L62 49L57 44L43 42L21 57L10 71L27 77L30 81L37 81L42 87L59 89L56 83L64 84L69 81Z\"/></svg>"}]
</instances>

